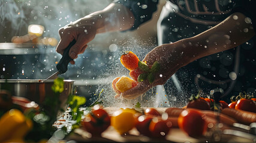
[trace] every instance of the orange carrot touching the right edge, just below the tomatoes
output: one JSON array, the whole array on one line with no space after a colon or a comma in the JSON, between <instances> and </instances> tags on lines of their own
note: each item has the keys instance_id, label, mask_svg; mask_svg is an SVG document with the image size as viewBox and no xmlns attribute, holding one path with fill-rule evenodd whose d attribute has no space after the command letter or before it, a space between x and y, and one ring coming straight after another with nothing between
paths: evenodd
<instances>
[{"instance_id":1,"label":"orange carrot touching the right edge, just below the tomatoes","mask_svg":"<svg viewBox=\"0 0 256 143\"><path fill-rule=\"evenodd\" d=\"M236 110L234 108L224 108L221 113L233 117L238 122L246 125L249 125L252 122L256 122L256 113L249 111Z\"/></svg>"}]
</instances>

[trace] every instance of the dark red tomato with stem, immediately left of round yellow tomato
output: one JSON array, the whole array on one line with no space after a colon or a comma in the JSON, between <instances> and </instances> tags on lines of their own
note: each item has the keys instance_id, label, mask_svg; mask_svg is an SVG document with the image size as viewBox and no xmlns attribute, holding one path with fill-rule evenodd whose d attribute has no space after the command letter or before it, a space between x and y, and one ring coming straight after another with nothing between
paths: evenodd
<instances>
[{"instance_id":1,"label":"dark red tomato with stem, immediately left of round yellow tomato","mask_svg":"<svg viewBox=\"0 0 256 143\"><path fill-rule=\"evenodd\" d=\"M97 105L96 105L97 106ZM82 127L94 136L100 136L110 126L110 116L103 108L94 107L81 121Z\"/></svg>"}]
</instances>

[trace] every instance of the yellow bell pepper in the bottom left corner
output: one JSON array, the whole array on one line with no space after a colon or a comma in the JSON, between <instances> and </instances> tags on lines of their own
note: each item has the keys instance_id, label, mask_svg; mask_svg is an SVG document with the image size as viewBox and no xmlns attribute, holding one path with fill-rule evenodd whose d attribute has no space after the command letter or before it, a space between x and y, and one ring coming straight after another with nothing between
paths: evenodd
<instances>
[{"instance_id":1,"label":"yellow bell pepper in the bottom left corner","mask_svg":"<svg viewBox=\"0 0 256 143\"><path fill-rule=\"evenodd\" d=\"M0 119L0 142L23 142L32 126L32 121L20 110L7 111Z\"/></svg>"}]
</instances>

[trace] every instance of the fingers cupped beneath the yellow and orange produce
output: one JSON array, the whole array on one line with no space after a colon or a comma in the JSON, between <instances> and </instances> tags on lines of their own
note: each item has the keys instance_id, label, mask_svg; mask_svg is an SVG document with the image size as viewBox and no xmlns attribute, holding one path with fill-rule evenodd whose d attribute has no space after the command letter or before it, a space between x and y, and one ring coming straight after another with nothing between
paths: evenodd
<instances>
[{"instance_id":1,"label":"fingers cupped beneath the yellow and orange produce","mask_svg":"<svg viewBox=\"0 0 256 143\"><path fill-rule=\"evenodd\" d=\"M128 91L123 92L121 95L124 98L134 99L141 94L147 92L152 86L148 81L140 82L134 88L129 89Z\"/></svg>"}]
</instances>

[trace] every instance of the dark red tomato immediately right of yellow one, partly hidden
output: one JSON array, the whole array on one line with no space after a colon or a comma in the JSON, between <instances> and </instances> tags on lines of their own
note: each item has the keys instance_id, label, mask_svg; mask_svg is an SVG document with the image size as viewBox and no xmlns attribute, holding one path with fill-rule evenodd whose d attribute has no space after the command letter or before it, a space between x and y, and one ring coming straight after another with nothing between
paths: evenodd
<instances>
[{"instance_id":1,"label":"dark red tomato immediately right of yellow one, partly hidden","mask_svg":"<svg viewBox=\"0 0 256 143\"><path fill-rule=\"evenodd\" d=\"M151 135L151 132L149 130L149 125L152 119L153 119L152 116L142 115L138 117L135 127L138 130L138 132L140 132L141 135L146 135L146 136Z\"/></svg>"}]
</instances>

